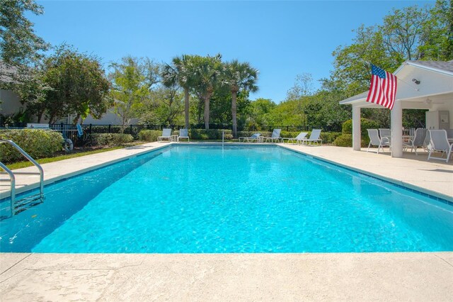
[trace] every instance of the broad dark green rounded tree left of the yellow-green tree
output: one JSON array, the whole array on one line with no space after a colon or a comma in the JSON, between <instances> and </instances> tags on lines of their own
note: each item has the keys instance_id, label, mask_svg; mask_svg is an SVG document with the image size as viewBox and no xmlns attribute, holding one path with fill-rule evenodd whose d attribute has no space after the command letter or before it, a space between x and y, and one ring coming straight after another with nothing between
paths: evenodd
<instances>
[{"instance_id":1,"label":"broad dark green rounded tree left of the yellow-green tree","mask_svg":"<svg viewBox=\"0 0 453 302\"><path fill-rule=\"evenodd\" d=\"M86 118L88 113L101 118L110 106L110 82L97 57L61 45L44 60L44 82L50 89L45 109L50 123L67 115Z\"/></svg>"}]
</instances>

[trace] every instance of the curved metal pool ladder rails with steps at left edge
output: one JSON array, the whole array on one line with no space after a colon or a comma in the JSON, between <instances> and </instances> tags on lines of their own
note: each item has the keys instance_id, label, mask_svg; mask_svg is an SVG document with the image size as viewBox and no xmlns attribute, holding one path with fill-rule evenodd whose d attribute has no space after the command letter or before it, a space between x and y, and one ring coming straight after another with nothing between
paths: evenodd
<instances>
[{"instance_id":1,"label":"curved metal pool ladder rails with steps at left edge","mask_svg":"<svg viewBox=\"0 0 453 302\"><path fill-rule=\"evenodd\" d=\"M0 174L8 174L9 179L0 179L1 181L10 181L11 182L11 217L25 211L27 208L36 206L44 201L44 170L38 162L33 160L33 158L28 155L27 152L22 150L21 147L16 145L12 140L0 140L0 144L9 144L14 147L18 152L29 160L35 167L38 168L38 172L12 172L11 169L8 169L3 162L0 162L1 169L4 169L5 172L0 172ZM31 196L27 196L22 199L16 200L16 175L15 174L28 174L28 175L39 175L40 176L40 192Z\"/></svg>"}]
</instances>

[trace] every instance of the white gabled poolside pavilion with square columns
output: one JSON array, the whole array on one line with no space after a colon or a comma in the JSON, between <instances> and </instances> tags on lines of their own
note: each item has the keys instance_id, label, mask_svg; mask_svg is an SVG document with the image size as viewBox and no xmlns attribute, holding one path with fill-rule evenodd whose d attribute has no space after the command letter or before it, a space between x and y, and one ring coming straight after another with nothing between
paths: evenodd
<instances>
[{"instance_id":1,"label":"white gabled poolside pavilion with square columns","mask_svg":"<svg viewBox=\"0 0 453 302\"><path fill-rule=\"evenodd\" d=\"M453 112L453 60L406 61L394 72L398 78L391 110L391 157L403 157L403 109L428 109L426 128L451 129ZM340 101L352 106L352 148L360 150L360 109L381 108L368 103L368 91ZM420 156L420 155L419 155Z\"/></svg>"}]
</instances>

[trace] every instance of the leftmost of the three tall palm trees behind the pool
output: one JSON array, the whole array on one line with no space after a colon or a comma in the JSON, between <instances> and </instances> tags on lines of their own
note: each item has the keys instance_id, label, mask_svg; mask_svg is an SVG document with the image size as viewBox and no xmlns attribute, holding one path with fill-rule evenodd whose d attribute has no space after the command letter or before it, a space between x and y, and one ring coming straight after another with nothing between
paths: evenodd
<instances>
[{"instance_id":1,"label":"leftmost of the three tall palm trees behind the pool","mask_svg":"<svg viewBox=\"0 0 453 302\"><path fill-rule=\"evenodd\" d=\"M173 57L172 65L165 65L162 79L165 86L171 88L179 85L184 89L185 128L189 128L189 90L193 85L193 71L190 70L192 56Z\"/></svg>"}]
</instances>

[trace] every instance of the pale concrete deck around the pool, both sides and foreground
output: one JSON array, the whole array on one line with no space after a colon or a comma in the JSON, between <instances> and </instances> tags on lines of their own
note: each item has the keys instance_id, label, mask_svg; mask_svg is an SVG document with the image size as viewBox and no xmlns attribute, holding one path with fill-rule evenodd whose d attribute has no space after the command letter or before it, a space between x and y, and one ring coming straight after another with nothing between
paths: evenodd
<instances>
[{"instance_id":1,"label":"pale concrete deck around the pool, both sides and foreground","mask_svg":"<svg viewBox=\"0 0 453 302\"><path fill-rule=\"evenodd\" d=\"M166 143L43 164L52 182ZM453 196L453 160L284 145L395 183ZM33 167L21 169L33 170ZM36 177L21 176L30 189ZM1 186L6 194L7 189ZM1 301L451 301L453 252L0 254Z\"/></svg>"}]
</instances>

